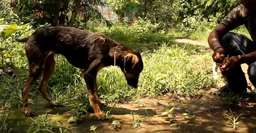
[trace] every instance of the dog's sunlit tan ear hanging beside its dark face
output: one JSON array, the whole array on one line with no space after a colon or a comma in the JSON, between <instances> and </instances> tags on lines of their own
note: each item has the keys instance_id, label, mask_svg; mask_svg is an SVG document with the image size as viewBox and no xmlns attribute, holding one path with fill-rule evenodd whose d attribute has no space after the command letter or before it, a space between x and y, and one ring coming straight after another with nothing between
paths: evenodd
<instances>
[{"instance_id":1,"label":"dog's sunlit tan ear hanging beside its dark face","mask_svg":"<svg viewBox=\"0 0 256 133\"><path fill-rule=\"evenodd\" d=\"M125 71L131 71L134 66L139 62L139 58L137 55L128 53L125 57L125 64L124 64L124 69Z\"/></svg>"}]
</instances>

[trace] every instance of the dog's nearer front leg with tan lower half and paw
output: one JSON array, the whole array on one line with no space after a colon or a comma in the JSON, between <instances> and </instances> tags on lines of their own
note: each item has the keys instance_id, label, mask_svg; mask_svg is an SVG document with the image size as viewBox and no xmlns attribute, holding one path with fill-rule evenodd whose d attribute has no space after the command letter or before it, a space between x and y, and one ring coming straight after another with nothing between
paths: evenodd
<instances>
[{"instance_id":1,"label":"dog's nearer front leg with tan lower half and paw","mask_svg":"<svg viewBox=\"0 0 256 133\"><path fill-rule=\"evenodd\" d=\"M94 76L95 76L95 73L97 73L97 68L100 62L101 60L94 60L90 64L89 68L83 71L82 75L86 82L86 86L89 92L89 98L91 102L90 105L93 107L95 117L97 117L99 120L105 120L106 114L102 113L101 109L99 108L98 96L94 89L94 83L95 83Z\"/></svg>"}]
</instances>

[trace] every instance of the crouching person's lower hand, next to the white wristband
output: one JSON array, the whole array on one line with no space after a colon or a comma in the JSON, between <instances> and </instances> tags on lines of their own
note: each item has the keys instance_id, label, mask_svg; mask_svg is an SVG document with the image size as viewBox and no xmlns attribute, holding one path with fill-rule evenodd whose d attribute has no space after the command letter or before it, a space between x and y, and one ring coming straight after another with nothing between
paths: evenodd
<instances>
[{"instance_id":1,"label":"crouching person's lower hand, next to the white wristband","mask_svg":"<svg viewBox=\"0 0 256 133\"><path fill-rule=\"evenodd\" d=\"M221 74L223 76L229 75L231 73L231 71L236 68L237 66L240 65L239 62L239 58L238 56L232 56L231 58L229 58L229 60L227 61L227 63L225 63L221 68Z\"/></svg>"}]
</instances>

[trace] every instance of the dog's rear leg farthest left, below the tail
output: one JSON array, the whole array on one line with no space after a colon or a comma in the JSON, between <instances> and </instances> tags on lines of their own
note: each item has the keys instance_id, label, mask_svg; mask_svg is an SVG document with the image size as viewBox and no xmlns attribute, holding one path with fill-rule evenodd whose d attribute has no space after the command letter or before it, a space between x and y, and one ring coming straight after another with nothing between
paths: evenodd
<instances>
[{"instance_id":1,"label":"dog's rear leg farthest left, below the tail","mask_svg":"<svg viewBox=\"0 0 256 133\"><path fill-rule=\"evenodd\" d=\"M30 63L29 69L29 78L27 79L27 82L22 86L23 113L25 116L33 116L31 109L28 107L29 103L27 99L29 97L30 87L35 83L41 74L42 64L41 62Z\"/></svg>"}]
</instances>

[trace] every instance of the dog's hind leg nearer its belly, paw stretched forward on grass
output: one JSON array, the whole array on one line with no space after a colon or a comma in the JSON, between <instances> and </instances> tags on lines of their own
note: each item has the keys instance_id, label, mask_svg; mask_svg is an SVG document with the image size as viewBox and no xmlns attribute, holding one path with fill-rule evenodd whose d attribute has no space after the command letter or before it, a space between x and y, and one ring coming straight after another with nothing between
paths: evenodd
<instances>
[{"instance_id":1,"label":"dog's hind leg nearer its belly, paw stretched forward on grass","mask_svg":"<svg viewBox=\"0 0 256 133\"><path fill-rule=\"evenodd\" d=\"M58 102L52 101L52 99L47 94L47 84L48 84L48 81L49 81L49 79L52 75L52 72L53 72L54 68L55 68L55 64L56 64L56 61L54 60L54 56L49 55L48 58L46 58L46 60L45 60L45 68L44 68L42 80L41 80L40 85L38 86L38 90L41 92L43 97L52 106L58 106L59 105Z\"/></svg>"}]
</instances>

